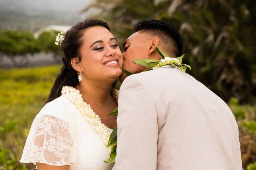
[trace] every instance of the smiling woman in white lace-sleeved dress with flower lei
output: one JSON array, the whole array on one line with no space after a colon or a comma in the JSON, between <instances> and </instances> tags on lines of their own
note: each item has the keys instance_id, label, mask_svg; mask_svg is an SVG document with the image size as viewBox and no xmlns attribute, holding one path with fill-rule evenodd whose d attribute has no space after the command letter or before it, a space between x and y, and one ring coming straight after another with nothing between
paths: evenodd
<instances>
[{"instance_id":1,"label":"smiling woman in white lace-sleeved dress with flower lei","mask_svg":"<svg viewBox=\"0 0 256 170\"><path fill-rule=\"evenodd\" d=\"M61 42L63 68L35 117L20 162L38 170L110 170L107 148L116 117L123 56L106 22L86 19Z\"/></svg>"}]
</instances>

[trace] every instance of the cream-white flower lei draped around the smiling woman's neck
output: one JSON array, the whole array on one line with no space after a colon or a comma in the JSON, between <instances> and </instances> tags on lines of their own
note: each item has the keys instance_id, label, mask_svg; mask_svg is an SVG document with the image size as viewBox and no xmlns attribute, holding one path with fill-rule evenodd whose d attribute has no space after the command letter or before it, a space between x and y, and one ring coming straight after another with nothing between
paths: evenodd
<instances>
[{"instance_id":1,"label":"cream-white flower lei draped around the smiling woman's neck","mask_svg":"<svg viewBox=\"0 0 256 170\"><path fill-rule=\"evenodd\" d=\"M113 89L113 91L112 91L113 97L116 100L118 100L118 92L119 91L117 89ZM108 143L108 140L110 137L110 133L107 129L107 126L105 126L101 122L100 117L98 116L98 114L96 114L92 110L90 104L87 104L86 102L84 102L82 95L80 94L80 91L75 89L74 87L63 86L62 90L61 90L61 94L66 95L66 97L72 103L74 103L78 112L80 112L82 114L82 116L84 117L84 119L92 126L92 128L95 131L97 131L97 133L99 134L100 138L102 139L104 145L107 146L107 143ZM113 146L111 146L111 147L113 147ZM111 151L111 147L108 147L109 151Z\"/></svg>"}]
</instances>

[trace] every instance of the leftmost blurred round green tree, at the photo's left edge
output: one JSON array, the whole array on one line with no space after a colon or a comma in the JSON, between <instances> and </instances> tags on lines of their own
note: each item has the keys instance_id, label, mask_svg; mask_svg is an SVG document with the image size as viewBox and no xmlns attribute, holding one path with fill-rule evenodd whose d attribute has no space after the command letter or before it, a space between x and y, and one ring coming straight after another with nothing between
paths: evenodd
<instances>
[{"instance_id":1,"label":"leftmost blurred round green tree, at the photo's left edge","mask_svg":"<svg viewBox=\"0 0 256 170\"><path fill-rule=\"evenodd\" d=\"M33 33L12 30L0 33L0 53L10 57L15 66L26 66L29 62L27 55L39 51L40 46L34 39Z\"/></svg>"}]
</instances>

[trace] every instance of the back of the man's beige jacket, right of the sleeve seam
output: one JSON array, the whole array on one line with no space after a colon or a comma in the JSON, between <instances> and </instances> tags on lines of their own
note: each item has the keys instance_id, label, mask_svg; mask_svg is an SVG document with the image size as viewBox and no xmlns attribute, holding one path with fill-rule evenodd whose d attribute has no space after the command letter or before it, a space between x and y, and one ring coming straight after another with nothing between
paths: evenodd
<instances>
[{"instance_id":1,"label":"back of the man's beige jacket, right of the sleeve seam","mask_svg":"<svg viewBox=\"0 0 256 170\"><path fill-rule=\"evenodd\" d=\"M154 100L158 170L242 169L238 127L223 100L177 68L134 76Z\"/></svg>"}]
</instances>

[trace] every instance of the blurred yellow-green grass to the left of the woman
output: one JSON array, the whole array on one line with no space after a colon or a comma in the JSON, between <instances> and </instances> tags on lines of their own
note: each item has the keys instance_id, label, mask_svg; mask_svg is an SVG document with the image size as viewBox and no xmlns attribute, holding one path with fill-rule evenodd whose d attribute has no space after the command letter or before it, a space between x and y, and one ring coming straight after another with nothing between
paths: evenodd
<instances>
[{"instance_id":1,"label":"blurred yellow-green grass to the left of the woman","mask_svg":"<svg viewBox=\"0 0 256 170\"><path fill-rule=\"evenodd\" d=\"M19 162L35 115L61 66L0 70L0 170L35 169Z\"/></svg>"}]
</instances>

